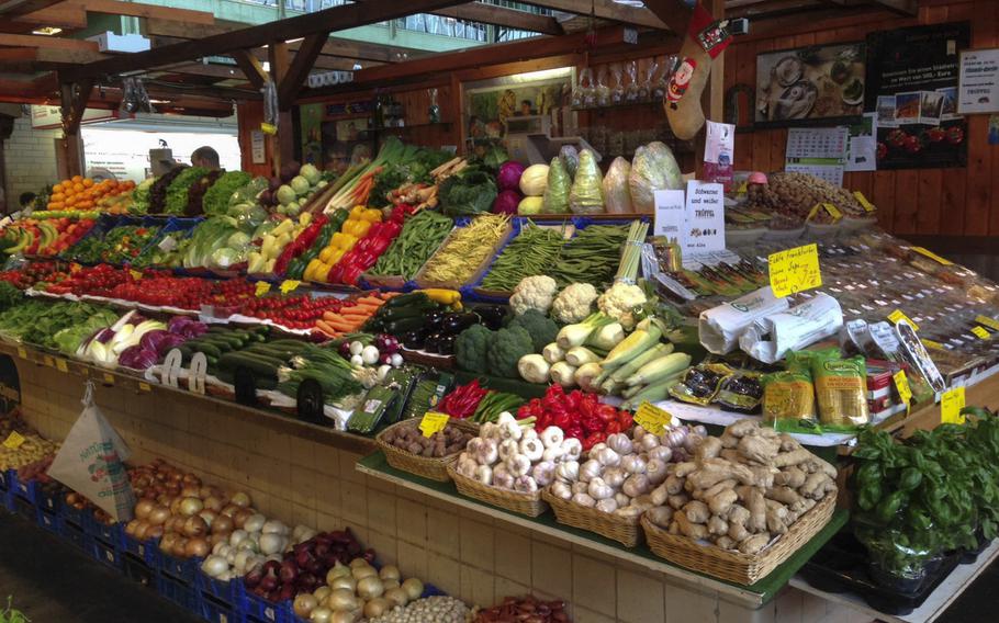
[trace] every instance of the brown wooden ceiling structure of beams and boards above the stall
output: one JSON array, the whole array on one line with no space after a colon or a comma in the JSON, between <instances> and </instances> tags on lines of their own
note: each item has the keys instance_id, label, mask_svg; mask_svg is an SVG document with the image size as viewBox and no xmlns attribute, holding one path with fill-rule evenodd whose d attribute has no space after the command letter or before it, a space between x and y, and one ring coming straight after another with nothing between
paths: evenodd
<instances>
[{"instance_id":1,"label":"brown wooden ceiling structure of beams and boards above the stall","mask_svg":"<svg viewBox=\"0 0 999 623\"><path fill-rule=\"evenodd\" d=\"M813 21L885 10L912 13L917 4L917 0L699 1L716 16L750 18L754 32L757 24L765 30L767 23L793 29L788 19ZM159 112L214 116L229 115L235 101L260 99L261 88L272 81L279 111L290 114L299 101L447 76L495 65L497 59L515 63L581 53L613 56L629 47L633 50L637 44L650 48L669 44L676 49L692 13L688 0L644 0L643 5L615 0L525 3L548 11L537 14L468 0L356 0L245 26L216 20L209 12L141 2L0 0L0 102L61 105L67 143L71 143L78 141L87 106L120 105L124 77L142 77ZM469 42L468 49L438 54L336 36L416 13L531 31L538 36L492 45ZM110 54L96 42L79 38L78 33L89 25L88 16L94 14L137 18L150 49ZM306 86L310 73L332 70L352 71L353 82L325 89ZM720 71L715 73L719 76L712 76L712 81L720 79ZM280 151L290 151L292 137L281 134L288 136L279 134Z\"/></svg>"}]
</instances>

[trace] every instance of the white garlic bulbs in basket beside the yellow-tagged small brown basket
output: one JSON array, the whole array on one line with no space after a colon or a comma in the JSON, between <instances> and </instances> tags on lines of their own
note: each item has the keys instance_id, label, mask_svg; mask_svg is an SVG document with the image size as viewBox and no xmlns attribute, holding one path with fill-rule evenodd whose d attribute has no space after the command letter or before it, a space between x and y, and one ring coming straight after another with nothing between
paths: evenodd
<instances>
[{"instance_id":1,"label":"white garlic bulbs in basket beside the yellow-tagged small brown basket","mask_svg":"<svg viewBox=\"0 0 999 623\"><path fill-rule=\"evenodd\" d=\"M563 463L579 465L582 452L580 440L566 438L559 427L538 434L504 412L495 423L482 424L458 456L456 471L483 485L531 494L550 485Z\"/></svg>"}]
</instances>

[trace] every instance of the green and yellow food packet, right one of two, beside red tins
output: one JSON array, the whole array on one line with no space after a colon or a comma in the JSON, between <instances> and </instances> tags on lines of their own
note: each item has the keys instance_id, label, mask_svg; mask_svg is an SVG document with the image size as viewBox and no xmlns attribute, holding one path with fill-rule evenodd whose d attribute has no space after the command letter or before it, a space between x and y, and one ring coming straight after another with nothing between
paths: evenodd
<instances>
[{"instance_id":1,"label":"green and yellow food packet, right one of two, beside red tins","mask_svg":"<svg viewBox=\"0 0 999 623\"><path fill-rule=\"evenodd\" d=\"M820 351L811 360L823 430L850 431L869 423L867 366L863 356L841 359L839 351Z\"/></svg>"}]
</instances>

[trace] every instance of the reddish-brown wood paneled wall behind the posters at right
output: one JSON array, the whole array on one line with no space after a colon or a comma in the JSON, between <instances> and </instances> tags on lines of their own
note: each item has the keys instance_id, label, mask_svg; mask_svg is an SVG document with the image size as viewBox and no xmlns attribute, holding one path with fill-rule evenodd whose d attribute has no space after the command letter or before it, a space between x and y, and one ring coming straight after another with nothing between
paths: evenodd
<instances>
[{"instance_id":1,"label":"reddish-brown wood paneled wall behind the posters at right","mask_svg":"<svg viewBox=\"0 0 999 623\"><path fill-rule=\"evenodd\" d=\"M816 21L787 35L750 35L725 53L726 91L755 86L756 54L812 44L863 41L867 33L918 24L972 22L972 47L999 47L996 0L921 0L918 18L890 13ZM988 115L968 117L966 168L848 173L844 185L862 191L878 207L882 225L895 234L999 236L999 147L988 145ZM736 168L784 168L786 129L736 135Z\"/></svg>"}]
</instances>

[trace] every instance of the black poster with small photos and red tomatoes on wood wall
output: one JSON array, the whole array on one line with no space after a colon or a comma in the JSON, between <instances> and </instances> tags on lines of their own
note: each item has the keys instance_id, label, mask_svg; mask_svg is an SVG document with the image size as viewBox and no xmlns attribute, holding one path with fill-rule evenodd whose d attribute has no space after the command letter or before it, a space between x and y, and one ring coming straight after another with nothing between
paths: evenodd
<instances>
[{"instance_id":1,"label":"black poster with small photos and red tomatoes on wood wall","mask_svg":"<svg viewBox=\"0 0 999 623\"><path fill-rule=\"evenodd\" d=\"M957 87L959 53L969 39L968 22L867 35L865 110L876 116L878 169L966 165Z\"/></svg>"}]
</instances>

